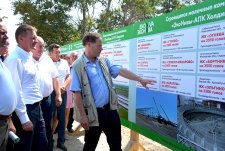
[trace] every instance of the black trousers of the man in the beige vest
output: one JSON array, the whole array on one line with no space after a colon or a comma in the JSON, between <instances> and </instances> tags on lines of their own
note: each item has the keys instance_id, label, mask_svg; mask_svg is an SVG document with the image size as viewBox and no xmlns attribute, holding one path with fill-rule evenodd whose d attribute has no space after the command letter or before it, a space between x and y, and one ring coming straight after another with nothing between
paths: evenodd
<instances>
[{"instance_id":1,"label":"black trousers of the man in the beige vest","mask_svg":"<svg viewBox=\"0 0 225 151\"><path fill-rule=\"evenodd\" d=\"M89 130L85 131L83 151L95 151L102 131L106 135L110 151L121 151L121 123L117 110L97 111L99 126L89 127Z\"/></svg>"}]
</instances>

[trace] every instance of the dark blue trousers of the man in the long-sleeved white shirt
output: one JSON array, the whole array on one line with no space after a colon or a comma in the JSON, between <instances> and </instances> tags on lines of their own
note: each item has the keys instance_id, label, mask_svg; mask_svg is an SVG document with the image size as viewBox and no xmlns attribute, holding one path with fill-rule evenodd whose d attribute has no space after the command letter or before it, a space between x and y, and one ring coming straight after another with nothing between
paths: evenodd
<instances>
[{"instance_id":1,"label":"dark blue trousers of the man in the long-sleeved white shirt","mask_svg":"<svg viewBox=\"0 0 225 151\"><path fill-rule=\"evenodd\" d=\"M45 122L42 116L40 103L26 105L27 114L33 123L33 131L24 131L19 118L14 112L12 120L16 127L16 134L20 142L14 145L15 151L47 151Z\"/></svg>"}]
</instances>

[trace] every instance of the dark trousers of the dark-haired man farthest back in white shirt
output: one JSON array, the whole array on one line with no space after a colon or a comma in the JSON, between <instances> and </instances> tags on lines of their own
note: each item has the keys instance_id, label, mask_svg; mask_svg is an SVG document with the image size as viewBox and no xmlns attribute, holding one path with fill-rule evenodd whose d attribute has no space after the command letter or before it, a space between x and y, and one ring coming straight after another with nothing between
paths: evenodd
<instances>
[{"instance_id":1,"label":"dark trousers of the dark-haired man farthest back in white shirt","mask_svg":"<svg viewBox=\"0 0 225 151\"><path fill-rule=\"evenodd\" d=\"M65 118L66 118L66 102L67 102L67 93L66 91L61 95L62 97L62 104L59 107L55 105L55 91L52 92L51 101L52 101L52 108L53 108L53 115L57 112L58 122L58 144L64 144L65 142Z\"/></svg>"}]
</instances>

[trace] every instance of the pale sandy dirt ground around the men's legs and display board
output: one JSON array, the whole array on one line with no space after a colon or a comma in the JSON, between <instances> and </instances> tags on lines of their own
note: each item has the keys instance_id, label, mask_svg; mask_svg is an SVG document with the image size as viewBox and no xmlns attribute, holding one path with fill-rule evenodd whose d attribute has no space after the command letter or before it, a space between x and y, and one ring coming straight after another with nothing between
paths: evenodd
<instances>
[{"instance_id":1,"label":"pale sandy dirt ground around the men's legs and display board","mask_svg":"<svg viewBox=\"0 0 225 151\"><path fill-rule=\"evenodd\" d=\"M74 129L79 125L78 123L74 123ZM78 133L68 133L66 131L66 142L65 145L67 146L68 151L82 151L83 144L84 144L84 130L81 129ZM60 149L56 148L56 140L57 135L54 135L55 144L54 144L54 151L60 151ZM123 151L128 151L129 149L129 140L130 140L130 129L122 126L122 149ZM145 136L139 135L139 142L145 148L146 151L170 151L170 149L162 146L161 144L146 138ZM109 147L106 141L105 134L102 133L100 140L98 142L98 146L96 151L109 151Z\"/></svg>"}]
</instances>

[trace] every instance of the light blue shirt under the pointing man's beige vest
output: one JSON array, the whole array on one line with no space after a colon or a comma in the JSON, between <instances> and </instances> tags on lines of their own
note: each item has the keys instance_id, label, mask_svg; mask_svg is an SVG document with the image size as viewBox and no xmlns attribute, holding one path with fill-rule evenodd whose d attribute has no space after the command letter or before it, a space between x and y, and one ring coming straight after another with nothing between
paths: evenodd
<instances>
[{"instance_id":1,"label":"light blue shirt under the pointing man's beige vest","mask_svg":"<svg viewBox=\"0 0 225 151\"><path fill-rule=\"evenodd\" d=\"M87 64L87 75L90 81L92 95L95 101L96 107L102 107L109 102L109 89L107 82L104 78L99 61L96 60L95 63L91 63L87 57L83 58ZM113 65L108 59L106 59L109 72L113 78L116 78L122 67L119 65ZM82 92L81 84L75 70L71 70L72 81L70 85L70 91Z\"/></svg>"}]
</instances>

